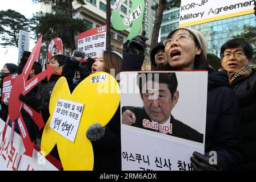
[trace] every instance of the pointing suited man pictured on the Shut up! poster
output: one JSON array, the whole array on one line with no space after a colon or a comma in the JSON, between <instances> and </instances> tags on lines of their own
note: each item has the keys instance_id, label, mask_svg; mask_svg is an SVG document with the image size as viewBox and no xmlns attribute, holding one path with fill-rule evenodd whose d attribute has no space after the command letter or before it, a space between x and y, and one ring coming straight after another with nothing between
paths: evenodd
<instances>
[{"instance_id":1,"label":"pointing suited man pictured on the Shut up! poster","mask_svg":"<svg viewBox=\"0 0 256 182\"><path fill-rule=\"evenodd\" d=\"M175 73L138 73L137 85L143 107L123 106L123 124L203 143L203 134L171 115L179 99ZM171 131L159 130L168 127Z\"/></svg>"}]
</instances>

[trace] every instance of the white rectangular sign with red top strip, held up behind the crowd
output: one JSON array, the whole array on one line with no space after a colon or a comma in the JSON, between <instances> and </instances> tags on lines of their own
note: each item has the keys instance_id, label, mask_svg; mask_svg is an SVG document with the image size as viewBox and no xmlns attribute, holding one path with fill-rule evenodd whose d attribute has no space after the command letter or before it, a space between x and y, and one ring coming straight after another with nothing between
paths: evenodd
<instances>
[{"instance_id":1,"label":"white rectangular sign with red top strip, held up behind the crowd","mask_svg":"<svg viewBox=\"0 0 256 182\"><path fill-rule=\"evenodd\" d=\"M106 50L106 25L78 34L78 50L85 52L85 59L95 59Z\"/></svg>"}]
</instances>

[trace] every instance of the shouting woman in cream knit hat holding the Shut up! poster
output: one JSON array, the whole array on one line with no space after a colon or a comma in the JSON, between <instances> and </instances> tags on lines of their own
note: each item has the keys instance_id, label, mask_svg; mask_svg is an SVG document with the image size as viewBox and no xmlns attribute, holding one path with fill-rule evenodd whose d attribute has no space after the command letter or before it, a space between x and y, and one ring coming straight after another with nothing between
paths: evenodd
<instances>
[{"instance_id":1,"label":"shouting woman in cream knit hat holding the Shut up! poster","mask_svg":"<svg viewBox=\"0 0 256 182\"><path fill-rule=\"evenodd\" d=\"M137 36L139 38L139 36ZM239 133L238 103L234 92L228 88L225 73L214 72L206 61L207 42L203 35L191 28L172 30L163 42L168 60L161 70L191 71L205 69L209 72L206 118L206 154L193 153L191 164L195 170L235 169L241 162L241 136ZM129 48L129 46L128 46ZM137 47L141 49L141 45ZM135 55L136 56L136 55ZM123 70L135 70L143 60L135 63L133 55L130 60L123 60ZM129 64L129 61L131 62ZM139 69L137 69L138 71ZM209 163L209 152L217 152L215 163ZM217 163L216 163L217 162Z\"/></svg>"}]
</instances>

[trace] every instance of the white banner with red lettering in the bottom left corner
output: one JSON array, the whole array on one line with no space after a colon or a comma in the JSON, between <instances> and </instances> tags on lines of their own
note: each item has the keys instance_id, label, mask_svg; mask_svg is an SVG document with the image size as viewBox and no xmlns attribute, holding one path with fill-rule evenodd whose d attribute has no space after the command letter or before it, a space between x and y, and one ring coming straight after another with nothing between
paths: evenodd
<instances>
[{"instance_id":1,"label":"white banner with red lettering in the bottom left corner","mask_svg":"<svg viewBox=\"0 0 256 182\"><path fill-rule=\"evenodd\" d=\"M14 132L13 148L11 148L11 127L7 127L5 139L2 140L5 122L0 119L0 171L57 171L37 150L33 157L23 155L25 148L22 138Z\"/></svg>"}]
</instances>

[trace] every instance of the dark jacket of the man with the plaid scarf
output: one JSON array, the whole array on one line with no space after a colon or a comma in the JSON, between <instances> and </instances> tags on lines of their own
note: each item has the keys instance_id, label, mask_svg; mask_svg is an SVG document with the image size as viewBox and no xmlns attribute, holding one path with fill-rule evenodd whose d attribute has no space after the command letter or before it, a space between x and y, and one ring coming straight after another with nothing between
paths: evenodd
<instances>
[{"instance_id":1,"label":"dark jacket of the man with the plaid scarf","mask_svg":"<svg viewBox=\"0 0 256 182\"><path fill-rule=\"evenodd\" d=\"M239 169L256 169L256 71L245 80L230 84L239 102L243 161Z\"/></svg>"}]
</instances>

